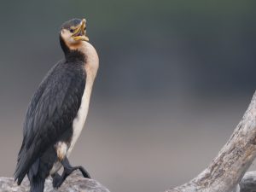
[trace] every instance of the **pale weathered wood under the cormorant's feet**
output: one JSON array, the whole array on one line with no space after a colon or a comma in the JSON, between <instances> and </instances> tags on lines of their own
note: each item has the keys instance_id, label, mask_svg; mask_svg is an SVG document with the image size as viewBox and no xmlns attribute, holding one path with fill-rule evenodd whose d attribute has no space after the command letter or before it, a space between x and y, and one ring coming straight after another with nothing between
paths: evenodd
<instances>
[{"instance_id":1,"label":"pale weathered wood under the cormorant's feet","mask_svg":"<svg viewBox=\"0 0 256 192\"><path fill-rule=\"evenodd\" d=\"M13 178L0 177L1 192L27 192L29 191L29 182L27 177L20 186L14 182ZM60 189L53 189L52 180L48 178L44 184L44 192L109 192L107 188L102 186L96 180L84 178L79 172L74 172L67 177L67 180L61 185Z\"/></svg>"}]
</instances>

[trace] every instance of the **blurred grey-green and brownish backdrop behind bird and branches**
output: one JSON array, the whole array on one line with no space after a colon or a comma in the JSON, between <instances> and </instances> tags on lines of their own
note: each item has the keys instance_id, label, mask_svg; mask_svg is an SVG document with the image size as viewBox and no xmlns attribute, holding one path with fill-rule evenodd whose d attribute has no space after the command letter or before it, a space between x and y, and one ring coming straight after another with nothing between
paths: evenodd
<instances>
[{"instance_id":1,"label":"blurred grey-green and brownish backdrop behind bird and branches","mask_svg":"<svg viewBox=\"0 0 256 192\"><path fill-rule=\"evenodd\" d=\"M255 6L2 1L0 175L13 176L27 104L63 57L61 24L85 17L100 70L72 164L112 192L164 191L195 177L226 143L256 88Z\"/></svg>"}]
</instances>

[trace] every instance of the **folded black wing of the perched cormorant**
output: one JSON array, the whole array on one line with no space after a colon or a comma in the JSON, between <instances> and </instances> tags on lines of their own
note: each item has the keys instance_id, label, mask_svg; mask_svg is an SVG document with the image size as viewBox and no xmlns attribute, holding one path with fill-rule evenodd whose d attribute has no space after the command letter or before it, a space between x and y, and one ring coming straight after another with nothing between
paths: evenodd
<instances>
[{"instance_id":1,"label":"folded black wing of the perched cormorant","mask_svg":"<svg viewBox=\"0 0 256 192\"><path fill-rule=\"evenodd\" d=\"M27 109L15 180L20 184L45 150L72 129L84 93L81 63L58 63L39 85Z\"/></svg>"}]
</instances>

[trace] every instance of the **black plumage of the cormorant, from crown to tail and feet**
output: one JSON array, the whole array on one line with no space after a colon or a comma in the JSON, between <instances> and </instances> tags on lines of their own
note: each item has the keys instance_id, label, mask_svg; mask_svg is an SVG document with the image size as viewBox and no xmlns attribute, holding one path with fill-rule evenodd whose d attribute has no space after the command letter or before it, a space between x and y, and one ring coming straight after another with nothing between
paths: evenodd
<instances>
[{"instance_id":1,"label":"black plumage of the cormorant, from crown to tail and feet","mask_svg":"<svg viewBox=\"0 0 256 192\"><path fill-rule=\"evenodd\" d=\"M78 25L84 27L84 20L69 20L61 29L69 30L71 26ZM56 151L57 143L65 143L67 148L70 146L73 120L81 106L86 84L84 63L87 59L78 49L69 49L61 33L60 43L65 59L52 67L39 85L29 103L24 122L15 180L20 184L27 174L32 192L44 191L45 178L57 161L64 166L64 172L62 176L52 175L54 187L59 187L75 169L79 169L84 177L90 177L83 167L70 166L66 156L60 160Z\"/></svg>"}]
</instances>

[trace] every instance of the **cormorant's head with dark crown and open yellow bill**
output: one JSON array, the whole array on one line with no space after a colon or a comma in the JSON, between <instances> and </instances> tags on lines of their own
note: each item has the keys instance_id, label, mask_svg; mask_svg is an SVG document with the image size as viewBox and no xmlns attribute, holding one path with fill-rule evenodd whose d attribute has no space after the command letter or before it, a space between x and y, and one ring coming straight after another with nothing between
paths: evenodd
<instances>
[{"instance_id":1,"label":"cormorant's head with dark crown and open yellow bill","mask_svg":"<svg viewBox=\"0 0 256 192\"><path fill-rule=\"evenodd\" d=\"M83 41L89 41L86 36L86 20L67 20L61 26L60 38L64 51L65 49L76 49Z\"/></svg>"}]
</instances>

